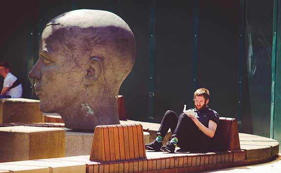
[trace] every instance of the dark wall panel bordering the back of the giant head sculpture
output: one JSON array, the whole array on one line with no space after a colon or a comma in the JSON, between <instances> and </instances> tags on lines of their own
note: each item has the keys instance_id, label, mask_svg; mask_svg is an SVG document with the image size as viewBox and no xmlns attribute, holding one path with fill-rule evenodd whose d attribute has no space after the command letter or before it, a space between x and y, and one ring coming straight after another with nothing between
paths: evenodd
<instances>
[{"instance_id":1,"label":"dark wall panel bordering the back of the giant head sculpture","mask_svg":"<svg viewBox=\"0 0 281 173\"><path fill-rule=\"evenodd\" d=\"M142 121L147 120L148 107L149 2L120 0L115 7L115 13L129 24L137 44L135 65L119 94L125 96L127 117Z\"/></svg>"}]
</instances>

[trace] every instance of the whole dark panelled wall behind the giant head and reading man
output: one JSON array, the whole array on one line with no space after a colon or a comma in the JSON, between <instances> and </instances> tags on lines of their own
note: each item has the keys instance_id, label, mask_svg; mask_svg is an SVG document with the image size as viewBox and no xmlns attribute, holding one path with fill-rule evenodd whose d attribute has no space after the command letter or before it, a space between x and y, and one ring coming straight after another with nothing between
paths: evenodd
<instances>
[{"instance_id":1,"label":"whole dark panelled wall behind the giant head and reading man","mask_svg":"<svg viewBox=\"0 0 281 173\"><path fill-rule=\"evenodd\" d=\"M24 97L37 98L30 88L33 81L27 74L38 59L44 25L73 9L112 11L129 24L137 42L136 63L122 84L120 95L125 96L129 119L147 121L152 8L155 14L153 121L160 122L168 109L180 114L184 104L193 107L196 87L211 91L209 105L221 116L239 118L238 66L242 65L242 131L269 136L273 0L247 0L243 9L245 23L239 20L240 0L199 0L198 3L196 0L155 0L155 6L152 2L0 2L0 61L9 62L11 71L22 79ZM242 45L245 51L244 61L238 62L238 26L241 24L245 26Z\"/></svg>"}]
</instances>

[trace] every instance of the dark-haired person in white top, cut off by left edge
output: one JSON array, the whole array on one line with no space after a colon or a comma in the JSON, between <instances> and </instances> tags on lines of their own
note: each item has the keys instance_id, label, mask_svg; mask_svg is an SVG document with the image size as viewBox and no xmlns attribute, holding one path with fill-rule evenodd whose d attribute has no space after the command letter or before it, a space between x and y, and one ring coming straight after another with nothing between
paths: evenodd
<instances>
[{"instance_id":1,"label":"dark-haired person in white top, cut off by left edge","mask_svg":"<svg viewBox=\"0 0 281 173\"><path fill-rule=\"evenodd\" d=\"M0 75L4 77L0 98L21 98L22 84L17 77L10 73L7 62L0 62Z\"/></svg>"}]
</instances>

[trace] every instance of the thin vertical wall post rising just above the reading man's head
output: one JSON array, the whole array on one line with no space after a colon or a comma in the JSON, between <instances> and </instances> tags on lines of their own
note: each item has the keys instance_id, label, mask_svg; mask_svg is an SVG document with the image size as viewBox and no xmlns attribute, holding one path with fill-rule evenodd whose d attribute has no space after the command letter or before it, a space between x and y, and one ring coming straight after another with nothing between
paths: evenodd
<instances>
[{"instance_id":1,"label":"thin vertical wall post rising just above the reading man's head","mask_svg":"<svg viewBox=\"0 0 281 173\"><path fill-rule=\"evenodd\" d=\"M191 91L191 98L194 96L194 91L198 87L198 61L199 61L199 0L194 0L194 7L192 8L192 67L191 67L191 74L192 74L192 91ZM189 107L193 106L193 102L189 105Z\"/></svg>"}]
</instances>

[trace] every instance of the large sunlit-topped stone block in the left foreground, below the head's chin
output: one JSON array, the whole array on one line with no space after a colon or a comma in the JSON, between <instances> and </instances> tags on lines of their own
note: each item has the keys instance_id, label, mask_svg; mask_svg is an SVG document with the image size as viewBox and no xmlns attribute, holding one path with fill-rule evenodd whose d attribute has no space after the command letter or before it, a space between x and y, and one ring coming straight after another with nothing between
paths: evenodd
<instances>
[{"instance_id":1,"label":"large sunlit-topped stone block in the left foreground, below the head's chin","mask_svg":"<svg viewBox=\"0 0 281 173\"><path fill-rule=\"evenodd\" d=\"M61 128L1 127L0 139L0 162L65 156L65 131Z\"/></svg>"}]
</instances>

